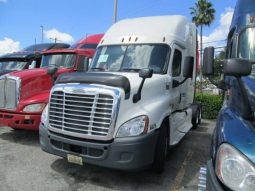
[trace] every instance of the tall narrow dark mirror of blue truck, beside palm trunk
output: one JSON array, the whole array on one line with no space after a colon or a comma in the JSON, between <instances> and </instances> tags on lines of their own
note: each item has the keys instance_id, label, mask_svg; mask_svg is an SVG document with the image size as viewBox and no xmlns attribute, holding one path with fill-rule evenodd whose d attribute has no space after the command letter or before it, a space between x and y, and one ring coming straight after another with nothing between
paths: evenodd
<instances>
[{"instance_id":1,"label":"tall narrow dark mirror of blue truck, beside palm trunk","mask_svg":"<svg viewBox=\"0 0 255 191\"><path fill-rule=\"evenodd\" d=\"M202 73L204 76L212 76L214 74L214 47L207 47L204 49L203 68Z\"/></svg>"}]
</instances>

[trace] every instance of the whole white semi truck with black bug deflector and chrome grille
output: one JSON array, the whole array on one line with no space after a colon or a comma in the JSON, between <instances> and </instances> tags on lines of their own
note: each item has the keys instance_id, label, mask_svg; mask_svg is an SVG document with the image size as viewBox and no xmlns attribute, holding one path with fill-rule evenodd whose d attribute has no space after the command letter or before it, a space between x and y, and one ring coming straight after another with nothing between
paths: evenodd
<instances>
[{"instance_id":1,"label":"whole white semi truck with black bug deflector and chrome grille","mask_svg":"<svg viewBox=\"0 0 255 191\"><path fill-rule=\"evenodd\" d=\"M57 79L42 149L78 164L162 171L168 148L200 121L196 40L195 25L178 15L114 24L89 72Z\"/></svg>"}]
</instances>

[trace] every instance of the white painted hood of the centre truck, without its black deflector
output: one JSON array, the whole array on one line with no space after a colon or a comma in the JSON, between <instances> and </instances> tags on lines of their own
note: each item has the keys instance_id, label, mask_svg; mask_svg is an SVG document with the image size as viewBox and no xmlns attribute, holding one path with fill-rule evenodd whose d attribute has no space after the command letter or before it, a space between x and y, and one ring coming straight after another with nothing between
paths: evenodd
<instances>
[{"instance_id":1,"label":"white painted hood of the centre truck, without its black deflector","mask_svg":"<svg viewBox=\"0 0 255 191\"><path fill-rule=\"evenodd\" d=\"M148 116L150 130L159 127L164 117L171 113L170 106L178 102L177 91L170 91L171 77L169 75L153 74L144 82L141 99L134 103L133 97L137 94L142 78L138 73L121 73L130 81L130 99L120 103L116 128L138 116ZM117 131L115 132L116 136Z\"/></svg>"}]
</instances>

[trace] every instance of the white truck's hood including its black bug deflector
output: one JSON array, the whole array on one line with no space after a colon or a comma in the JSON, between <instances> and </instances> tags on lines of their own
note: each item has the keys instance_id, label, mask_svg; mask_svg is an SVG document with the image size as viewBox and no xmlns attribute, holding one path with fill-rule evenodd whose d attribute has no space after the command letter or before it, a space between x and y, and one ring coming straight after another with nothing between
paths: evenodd
<instances>
[{"instance_id":1,"label":"white truck's hood including its black bug deflector","mask_svg":"<svg viewBox=\"0 0 255 191\"><path fill-rule=\"evenodd\" d=\"M161 121L171 113L171 106L178 103L179 93L170 88L169 75L153 74L147 78L141 91L141 100L134 103L133 97L138 92L142 78L131 72L76 72L59 76L56 84L80 83L93 86L115 87L121 92L116 128L138 117L148 116L151 130L160 126ZM175 88L177 89L177 88ZM115 131L116 136L117 131Z\"/></svg>"}]
</instances>

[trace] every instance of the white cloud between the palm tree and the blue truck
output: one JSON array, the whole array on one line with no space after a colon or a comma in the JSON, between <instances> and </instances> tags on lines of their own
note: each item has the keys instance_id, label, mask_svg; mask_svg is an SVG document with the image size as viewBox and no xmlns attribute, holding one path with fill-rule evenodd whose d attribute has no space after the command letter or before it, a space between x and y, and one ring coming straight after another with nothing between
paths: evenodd
<instances>
[{"instance_id":1,"label":"white cloud between the palm tree and the blue truck","mask_svg":"<svg viewBox=\"0 0 255 191\"><path fill-rule=\"evenodd\" d=\"M219 46L225 46L229 31L229 27L231 24L232 16L234 13L234 9L232 8L226 8L224 13L220 15L220 24L217 28L213 30L211 34L208 36L203 36L203 47L207 46L214 46L214 47L219 47ZM198 37L198 40L200 41L200 36ZM208 42L213 42L213 43L208 43Z\"/></svg>"}]
</instances>

